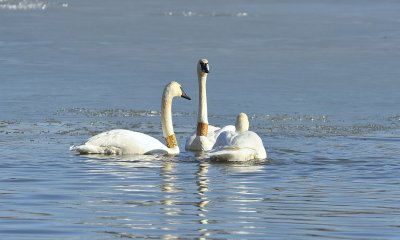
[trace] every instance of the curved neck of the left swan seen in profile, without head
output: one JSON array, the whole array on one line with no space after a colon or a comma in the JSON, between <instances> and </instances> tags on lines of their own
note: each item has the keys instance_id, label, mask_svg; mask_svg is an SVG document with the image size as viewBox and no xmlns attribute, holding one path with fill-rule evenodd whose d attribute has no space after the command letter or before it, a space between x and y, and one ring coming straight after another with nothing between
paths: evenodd
<instances>
[{"instance_id":1,"label":"curved neck of the left swan seen in profile, without head","mask_svg":"<svg viewBox=\"0 0 400 240\"><path fill-rule=\"evenodd\" d=\"M163 136L168 148L177 146L174 127L172 125L172 96L167 91L164 92L161 102L161 126Z\"/></svg>"}]
</instances>

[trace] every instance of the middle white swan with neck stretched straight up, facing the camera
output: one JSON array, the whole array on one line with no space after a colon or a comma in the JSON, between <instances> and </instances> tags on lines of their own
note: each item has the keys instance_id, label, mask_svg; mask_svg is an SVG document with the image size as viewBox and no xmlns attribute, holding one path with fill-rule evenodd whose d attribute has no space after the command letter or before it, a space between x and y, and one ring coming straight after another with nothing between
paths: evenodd
<instances>
[{"instance_id":1,"label":"middle white swan with neck stretched straight up, facing the camera","mask_svg":"<svg viewBox=\"0 0 400 240\"><path fill-rule=\"evenodd\" d=\"M197 129L186 140L185 149L189 151L209 151L219 134L224 131L235 131L235 126L233 125L218 128L208 124L206 81L209 72L208 60L200 59L197 63L197 77L199 81Z\"/></svg>"}]
</instances>

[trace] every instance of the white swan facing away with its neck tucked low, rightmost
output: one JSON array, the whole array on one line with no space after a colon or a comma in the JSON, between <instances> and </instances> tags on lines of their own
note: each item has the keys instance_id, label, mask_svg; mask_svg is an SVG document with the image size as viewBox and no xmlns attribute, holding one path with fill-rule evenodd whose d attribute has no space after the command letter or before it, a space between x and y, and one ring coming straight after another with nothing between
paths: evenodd
<instances>
[{"instance_id":1,"label":"white swan facing away with its neck tucked low, rightmost","mask_svg":"<svg viewBox=\"0 0 400 240\"><path fill-rule=\"evenodd\" d=\"M213 149L206 157L223 161L247 161L265 159L267 152L261 138L249 131L249 119L245 113L236 118L236 131L226 131L219 135Z\"/></svg>"}]
</instances>

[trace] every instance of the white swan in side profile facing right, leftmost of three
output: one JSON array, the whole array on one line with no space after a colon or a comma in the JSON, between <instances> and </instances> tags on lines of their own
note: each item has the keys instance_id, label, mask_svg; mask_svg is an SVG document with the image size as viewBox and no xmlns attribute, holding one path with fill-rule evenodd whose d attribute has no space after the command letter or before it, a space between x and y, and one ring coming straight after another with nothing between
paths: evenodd
<instances>
[{"instance_id":1,"label":"white swan in side profile facing right, leftmost of three","mask_svg":"<svg viewBox=\"0 0 400 240\"><path fill-rule=\"evenodd\" d=\"M71 150L80 154L179 154L179 147L172 126L171 106L173 97L183 97L190 100L179 83L172 81L165 86L161 101L161 125L167 143L166 146L144 133L115 129L95 135L83 145L72 146Z\"/></svg>"}]
</instances>

